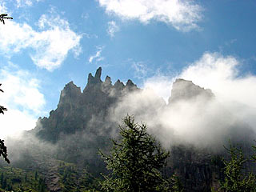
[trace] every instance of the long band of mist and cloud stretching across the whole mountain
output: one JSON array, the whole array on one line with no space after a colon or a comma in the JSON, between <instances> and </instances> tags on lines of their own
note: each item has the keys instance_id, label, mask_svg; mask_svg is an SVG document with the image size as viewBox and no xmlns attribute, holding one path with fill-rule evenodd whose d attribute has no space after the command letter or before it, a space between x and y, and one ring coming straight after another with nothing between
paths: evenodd
<instances>
[{"instance_id":1,"label":"long band of mist and cloud stretching across the whole mountain","mask_svg":"<svg viewBox=\"0 0 256 192\"><path fill-rule=\"evenodd\" d=\"M42 142L33 134L27 137L20 134L17 138L6 139L10 160L18 162L24 158L24 153L28 153L26 151L30 151L31 155L38 155L39 151L48 156L58 154L56 158L64 160L66 159L62 154L65 153L62 150L85 158L93 156L92 154L98 155L95 147L100 147L100 144L97 143L102 142L104 137L104 142L109 142L106 135L117 138L118 124L122 124L122 118L127 114L133 115L139 123L145 122L149 133L168 149L170 146L183 144L218 151L223 150L223 144L230 138L236 142L253 141L256 77L241 74L240 66L242 62L231 56L203 54L202 58L190 63L180 74L158 74L146 79L141 90L125 91L124 96L119 97L118 102L110 107L107 116L93 115L85 130L61 134L55 144ZM175 95L171 95L171 90L177 78L192 81L201 87L198 88L200 91L193 96L192 92L186 92L186 87L179 83L176 84L176 89L184 90L188 96L186 99L178 96L175 98ZM102 86L102 91L110 90ZM111 92L110 96L114 97L112 94L114 93ZM101 141L96 141L96 138ZM78 151L78 143L81 146L85 143L87 146Z\"/></svg>"}]
</instances>

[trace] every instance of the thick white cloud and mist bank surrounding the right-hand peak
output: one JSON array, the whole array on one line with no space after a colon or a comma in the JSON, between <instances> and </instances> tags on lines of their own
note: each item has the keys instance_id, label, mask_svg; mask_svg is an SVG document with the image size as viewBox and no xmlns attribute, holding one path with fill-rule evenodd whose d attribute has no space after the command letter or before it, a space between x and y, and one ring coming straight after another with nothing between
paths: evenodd
<instances>
[{"instance_id":1,"label":"thick white cloud and mist bank surrounding the right-hand peak","mask_svg":"<svg viewBox=\"0 0 256 192\"><path fill-rule=\"evenodd\" d=\"M136 121L146 122L150 133L166 147L187 144L218 150L230 138L253 141L256 77L241 74L240 66L242 62L231 56L203 54L175 77L158 74L147 79L143 90L128 94L110 110L110 119L120 122L126 114L134 115ZM210 89L214 96L208 98L202 92L172 101L172 85L177 78Z\"/></svg>"}]
</instances>

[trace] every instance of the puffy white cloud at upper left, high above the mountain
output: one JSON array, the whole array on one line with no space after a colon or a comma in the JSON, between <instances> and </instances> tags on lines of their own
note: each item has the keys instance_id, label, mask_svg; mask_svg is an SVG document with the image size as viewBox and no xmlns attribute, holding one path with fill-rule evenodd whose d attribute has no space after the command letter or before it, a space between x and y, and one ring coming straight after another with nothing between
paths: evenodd
<instances>
[{"instance_id":1,"label":"puffy white cloud at upper left, high above the mountain","mask_svg":"<svg viewBox=\"0 0 256 192\"><path fill-rule=\"evenodd\" d=\"M48 18L47 18L48 17ZM43 14L38 21L39 31L26 23L6 22L0 28L0 50L11 55L27 48L34 64L46 70L61 66L70 50L75 55L81 52L79 45L82 35L70 29L69 23L58 14Z\"/></svg>"}]
</instances>

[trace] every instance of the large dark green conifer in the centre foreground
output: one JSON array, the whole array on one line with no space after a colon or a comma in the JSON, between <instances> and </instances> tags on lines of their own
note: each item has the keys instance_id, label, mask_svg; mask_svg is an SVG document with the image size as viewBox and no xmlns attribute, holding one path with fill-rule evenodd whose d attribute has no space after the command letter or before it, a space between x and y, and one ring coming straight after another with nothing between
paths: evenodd
<instances>
[{"instance_id":1,"label":"large dark green conifer in the centre foreground","mask_svg":"<svg viewBox=\"0 0 256 192\"><path fill-rule=\"evenodd\" d=\"M129 115L119 126L121 141L113 142L110 155L99 153L105 159L109 176L103 175L102 190L113 192L170 191L170 182L162 177L169 152L146 132L146 124L135 123Z\"/></svg>"}]
</instances>

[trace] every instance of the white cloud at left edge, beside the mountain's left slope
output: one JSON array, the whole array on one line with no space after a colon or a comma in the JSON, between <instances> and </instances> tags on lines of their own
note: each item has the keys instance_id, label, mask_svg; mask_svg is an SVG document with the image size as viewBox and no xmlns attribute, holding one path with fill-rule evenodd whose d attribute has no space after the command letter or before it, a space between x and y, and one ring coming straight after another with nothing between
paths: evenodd
<instances>
[{"instance_id":1,"label":"white cloud at left edge, beside the mountain's left slope","mask_svg":"<svg viewBox=\"0 0 256 192\"><path fill-rule=\"evenodd\" d=\"M45 105L44 95L40 92L39 81L26 70L8 66L0 70L0 82L4 93L0 94L1 106L7 111L0 115L2 130L0 138L31 130Z\"/></svg>"}]
</instances>

